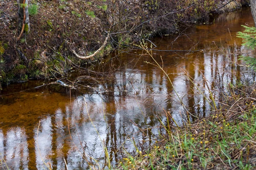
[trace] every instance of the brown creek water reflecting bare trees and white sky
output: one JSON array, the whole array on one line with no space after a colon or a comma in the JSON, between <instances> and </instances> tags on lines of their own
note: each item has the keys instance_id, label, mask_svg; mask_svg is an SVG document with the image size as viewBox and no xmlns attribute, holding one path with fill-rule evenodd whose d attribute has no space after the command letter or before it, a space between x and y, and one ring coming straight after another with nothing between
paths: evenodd
<instances>
[{"instance_id":1,"label":"brown creek water reflecting bare trees and white sky","mask_svg":"<svg viewBox=\"0 0 256 170\"><path fill-rule=\"evenodd\" d=\"M245 24L253 26L249 8L220 15L212 24L192 26L178 38L152 40L158 50L201 50L153 51L157 62L162 63L162 56L163 69L184 106L163 71L144 62L154 63L149 56L141 57L140 50L122 53L111 63L117 68L113 79L81 79L81 85L76 85L79 91L58 85L33 89L42 85L36 81L6 87L0 98L0 166L60 170L66 161L73 170L87 169L96 160L104 167L104 146L114 165L126 151L135 153L133 141L145 148L164 133L155 128L160 120L166 123L163 109L179 125L209 114L211 107L200 93L209 98L207 85L218 99L218 90L227 91L229 83L255 81L252 69L238 60L241 54L251 54L236 38ZM71 77L77 77L77 72ZM188 117L186 110L194 116Z\"/></svg>"}]
</instances>

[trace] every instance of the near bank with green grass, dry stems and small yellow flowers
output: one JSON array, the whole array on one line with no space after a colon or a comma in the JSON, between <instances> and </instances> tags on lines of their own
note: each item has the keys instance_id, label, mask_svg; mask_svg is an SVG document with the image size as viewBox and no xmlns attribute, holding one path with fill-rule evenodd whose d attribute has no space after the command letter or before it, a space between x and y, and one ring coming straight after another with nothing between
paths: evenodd
<instances>
[{"instance_id":1,"label":"near bank with green grass, dry stems and small yellow flowers","mask_svg":"<svg viewBox=\"0 0 256 170\"><path fill-rule=\"evenodd\" d=\"M184 127L167 117L166 136L149 150L121 160L119 169L256 169L255 84L230 87L218 110Z\"/></svg>"}]
</instances>

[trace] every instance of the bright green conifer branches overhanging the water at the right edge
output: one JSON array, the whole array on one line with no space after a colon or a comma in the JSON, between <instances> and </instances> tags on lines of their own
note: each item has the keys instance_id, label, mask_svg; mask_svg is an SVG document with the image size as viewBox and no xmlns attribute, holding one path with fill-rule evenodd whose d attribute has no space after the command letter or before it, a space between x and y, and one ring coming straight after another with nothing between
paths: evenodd
<instances>
[{"instance_id":1,"label":"bright green conifer branches overhanging the water at the right edge","mask_svg":"<svg viewBox=\"0 0 256 170\"><path fill-rule=\"evenodd\" d=\"M244 32L238 32L237 37L242 38L244 46L248 48L254 49L256 47L256 28L255 27L249 27L249 26L242 26L245 28ZM241 60L244 60L244 62L249 65L250 67L253 67L253 69L256 71L256 58L249 57L249 56L239 56Z\"/></svg>"}]
</instances>

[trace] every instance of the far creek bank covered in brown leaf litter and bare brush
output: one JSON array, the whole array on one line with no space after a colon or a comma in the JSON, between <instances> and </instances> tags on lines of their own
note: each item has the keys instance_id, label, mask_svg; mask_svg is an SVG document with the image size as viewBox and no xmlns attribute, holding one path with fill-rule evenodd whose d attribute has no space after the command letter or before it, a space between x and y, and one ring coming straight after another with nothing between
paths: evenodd
<instances>
[{"instance_id":1,"label":"far creek bank covered in brown leaf litter and bare brush","mask_svg":"<svg viewBox=\"0 0 256 170\"><path fill-rule=\"evenodd\" d=\"M71 68L87 68L78 59L98 50L107 32L108 44L93 61L111 51L157 34L172 34L179 24L204 23L212 13L233 11L248 0L157 1L115 0L31 1L38 14L30 16L30 32L17 41L17 4L0 3L0 88L28 79L66 77Z\"/></svg>"}]
</instances>

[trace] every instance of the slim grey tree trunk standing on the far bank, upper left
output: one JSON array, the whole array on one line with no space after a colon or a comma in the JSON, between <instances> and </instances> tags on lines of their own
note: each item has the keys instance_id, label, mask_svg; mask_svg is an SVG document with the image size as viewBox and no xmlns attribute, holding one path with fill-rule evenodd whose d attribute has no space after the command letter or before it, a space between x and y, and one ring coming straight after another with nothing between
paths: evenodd
<instances>
[{"instance_id":1,"label":"slim grey tree trunk standing on the far bank, upper left","mask_svg":"<svg viewBox=\"0 0 256 170\"><path fill-rule=\"evenodd\" d=\"M20 31L22 31L22 26L23 26L23 19L24 19L24 11L23 11L23 4L25 1L25 28L24 30L26 32L29 32L29 7L28 7L28 0L17 0L17 3L19 5L18 13L19 13L19 23L18 27Z\"/></svg>"}]
</instances>

